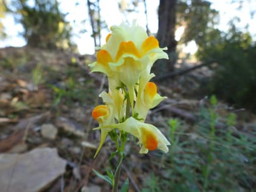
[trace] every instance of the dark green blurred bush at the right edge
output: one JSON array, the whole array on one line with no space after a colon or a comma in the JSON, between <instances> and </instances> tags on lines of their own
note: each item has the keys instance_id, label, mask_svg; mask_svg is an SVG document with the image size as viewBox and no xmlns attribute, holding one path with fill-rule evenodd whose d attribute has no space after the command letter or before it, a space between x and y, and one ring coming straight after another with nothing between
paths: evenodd
<instances>
[{"instance_id":1,"label":"dark green blurred bush at the right edge","mask_svg":"<svg viewBox=\"0 0 256 192\"><path fill-rule=\"evenodd\" d=\"M214 59L218 65L213 68L213 77L205 79L202 87L236 107L256 112L256 44L251 35L231 26L227 33L212 30L204 41L197 58Z\"/></svg>"}]
</instances>

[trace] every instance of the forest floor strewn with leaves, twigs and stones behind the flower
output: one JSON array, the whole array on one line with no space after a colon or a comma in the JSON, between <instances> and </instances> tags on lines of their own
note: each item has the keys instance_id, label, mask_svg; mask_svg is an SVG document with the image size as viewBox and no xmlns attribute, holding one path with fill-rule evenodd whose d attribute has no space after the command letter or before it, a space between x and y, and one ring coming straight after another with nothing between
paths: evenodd
<instances>
[{"instance_id":1,"label":"forest floor strewn with leaves, twigs and stones behind the flower","mask_svg":"<svg viewBox=\"0 0 256 192\"><path fill-rule=\"evenodd\" d=\"M99 131L92 130L98 124L91 118L91 111L102 103L98 94L107 91L105 77L89 73L87 64L94 60L93 55L63 51L0 49L0 186L3 191L68 192L80 191L82 187L87 187L86 191L111 191L108 183L92 171L105 174L105 169L116 165L115 158L108 161L115 151L110 139L105 141L98 157L93 158L100 137ZM172 132L169 120L178 119L183 134L190 134L189 139L195 140L198 124L210 124L205 113L210 113L211 118L212 108L213 114L218 115L218 123L214 124L216 132L232 129L234 137L244 135L248 141L254 140L255 114L224 102L210 101L210 96L199 91L201 80L211 74L210 69L203 67L175 79L156 82L158 92L168 99L151 110L146 122L159 127L169 138ZM235 126L227 122L230 113L236 116ZM177 129L181 128L177 126ZM127 143L121 182L129 177L129 191L141 191L152 172L168 178L163 165L169 163L166 158L170 156L158 151L141 155L138 151L137 144ZM248 168L249 187L241 184L242 188L255 187L254 162ZM207 188L205 182L196 185L201 191Z\"/></svg>"}]
</instances>

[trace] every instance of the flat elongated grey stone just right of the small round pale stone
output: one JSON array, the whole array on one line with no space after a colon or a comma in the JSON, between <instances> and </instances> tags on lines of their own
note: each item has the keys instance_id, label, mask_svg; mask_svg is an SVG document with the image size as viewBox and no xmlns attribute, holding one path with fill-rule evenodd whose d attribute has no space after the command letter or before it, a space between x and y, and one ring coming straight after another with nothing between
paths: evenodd
<instances>
[{"instance_id":1,"label":"flat elongated grey stone just right of the small round pale stone","mask_svg":"<svg viewBox=\"0 0 256 192\"><path fill-rule=\"evenodd\" d=\"M59 117L56 119L55 124L57 127L62 127L63 130L69 133L73 133L77 137L85 137L84 127L75 121Z\"/></svg>"}]
</instances>

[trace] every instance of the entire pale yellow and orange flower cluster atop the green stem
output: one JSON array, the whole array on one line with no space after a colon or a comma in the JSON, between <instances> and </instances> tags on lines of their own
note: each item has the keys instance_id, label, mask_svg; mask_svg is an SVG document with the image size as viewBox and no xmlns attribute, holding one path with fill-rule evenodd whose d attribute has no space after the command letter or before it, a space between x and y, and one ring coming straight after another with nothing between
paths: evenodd
<instances>
[{"instance_id":1,"label":"entire pale yellow and orange flower cluster atop the green stem","mask_svg":"<svg viewBox=\"0 0 256 192\"><path fill-rule=\"evenodd\" d=\"M108 78L108 93L99 94L104 105L98 105L92 112L99 123L96 129L101 129L101 143L95 156L107 135L117 140L116 129L121 140L127 133L138 138L140 153L157 148L168 152L169 141L165 136L157 127L144 123L149 110L165 99L149 81L155 76L151 73L153 63L168 59L165 48L159 48L157 39L148 37L137 24L121 24L111 30L106 44L98 51L97 61L89 65L91 72L104 73Z\"/></svg>"}]
</instances>

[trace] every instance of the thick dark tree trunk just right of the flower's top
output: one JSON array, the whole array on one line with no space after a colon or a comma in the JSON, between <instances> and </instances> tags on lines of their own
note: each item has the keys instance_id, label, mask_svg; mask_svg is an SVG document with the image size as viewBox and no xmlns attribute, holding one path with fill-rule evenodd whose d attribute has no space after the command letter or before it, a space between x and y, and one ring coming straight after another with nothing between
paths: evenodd
<instances>
[{"instance_id":1,"label":"thick dark tree trunk just right of the flower's top","mask_svg":"<svg viewBox=\"0 0 256 192\"><path fill-rule=\"evenodd\" d=\"M160 59L153 66L155 74L168 73L174 70L176 62L175 24L177 0L160 0L158 8L157 39L161 48L167 47L169 60Z\"/></svg>"}]
</instances>

